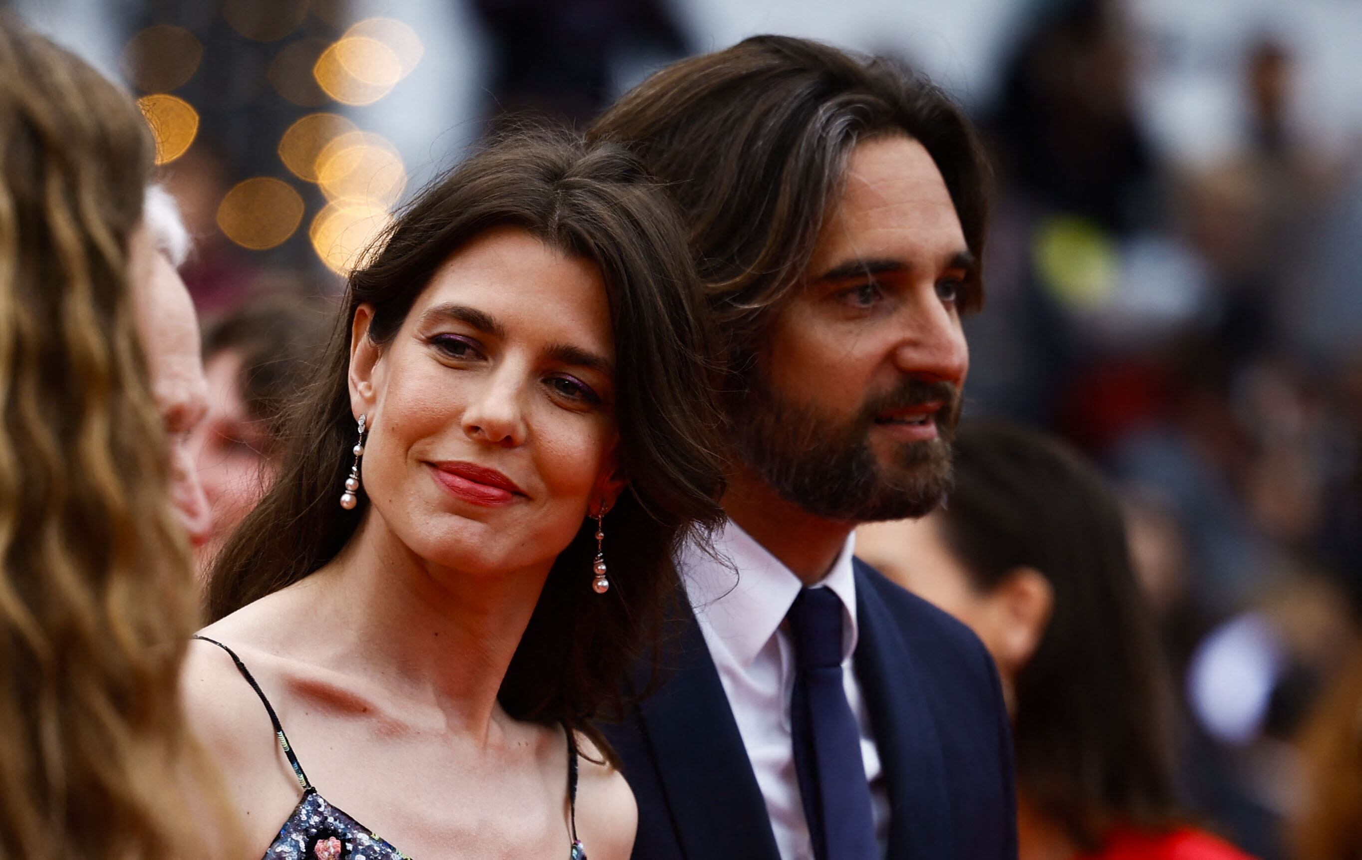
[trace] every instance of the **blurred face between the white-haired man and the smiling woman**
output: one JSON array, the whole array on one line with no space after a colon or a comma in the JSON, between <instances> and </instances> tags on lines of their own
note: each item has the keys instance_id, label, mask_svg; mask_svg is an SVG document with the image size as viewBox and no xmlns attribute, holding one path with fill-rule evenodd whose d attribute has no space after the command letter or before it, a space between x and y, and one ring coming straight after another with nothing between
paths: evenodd
<instances>
[{"instance_id":1,"label":"blurred face between the white-haired man and the smiling woman","mask_svg":"<svg viewBox=\"0 0 1362 860\"><path fill-rule=\"evenodd\" d=\"M203 570L232 531L251 513L270 482L276 463L267 452L270 437L241 400L241 354L223 350L204 365L208 378L208 412L189 434L203 493L208 499L212 528L208 542L196 548Z\"/></svg>"}]
</instances>

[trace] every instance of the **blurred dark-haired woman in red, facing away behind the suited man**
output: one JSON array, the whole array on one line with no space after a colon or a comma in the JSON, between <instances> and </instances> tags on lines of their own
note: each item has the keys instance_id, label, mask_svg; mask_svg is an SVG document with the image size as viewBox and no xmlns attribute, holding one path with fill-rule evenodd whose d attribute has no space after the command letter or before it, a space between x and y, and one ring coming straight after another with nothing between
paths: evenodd
<instances>
[{"instance_id":1,"label":"blurred dark-haired woman in red, facing away behind the suited man","mask_svg":"<svg viewBox=\"0 0 1362 860\"><path fill-rule=\"evenodd\" d=\"M1013 721L1020 860L1234 860L1188 826L1152 618L1114 493L1075 450L1002 422L962 425L956 486L857 551L979 634Z\"/></svg>"}]
</instances>

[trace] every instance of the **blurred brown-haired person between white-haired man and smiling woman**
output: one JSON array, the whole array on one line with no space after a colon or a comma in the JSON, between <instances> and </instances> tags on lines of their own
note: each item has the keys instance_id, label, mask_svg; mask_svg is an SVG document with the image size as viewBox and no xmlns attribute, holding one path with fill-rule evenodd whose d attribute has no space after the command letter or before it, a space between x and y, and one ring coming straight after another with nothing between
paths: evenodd
<instances>
[{"instance_id":1,"label":"blurred brown-haired person between white-haired man and smiling woman","mask_svg":"<svg viewBox=\"0 0 1362 860\"><path fill-rule=\"evenodd\" d=\"M207 498L200 574L279 468L285 412L326 336L321 308L290 294L249 299L208 324L203 337L208 414L189 437Z\"/></svg>"}]
</instances>

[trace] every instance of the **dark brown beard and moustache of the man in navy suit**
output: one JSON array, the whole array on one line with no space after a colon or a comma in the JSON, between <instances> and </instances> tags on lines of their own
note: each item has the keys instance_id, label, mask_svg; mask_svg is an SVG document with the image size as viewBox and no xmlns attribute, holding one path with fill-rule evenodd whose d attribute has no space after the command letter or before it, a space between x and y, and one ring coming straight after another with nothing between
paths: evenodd
<instances>
[{"instance_id":1,"label":"dark brown beard and moustache of the man in navy suit","mask_svg":"<svg viewBox=\"0 0 1362 860\"><path fill-rule=\"evenodd\" d=\"M891 461L881 463L870 446L876 415L932 401L943 404L934 415L937 438L899 442ZM951 491L960 393L949 382L907 378L838 419L790 403L755 371L730 415L738 460L814 516L851 523L922 517Z\"/></svg>"}]
</instances>

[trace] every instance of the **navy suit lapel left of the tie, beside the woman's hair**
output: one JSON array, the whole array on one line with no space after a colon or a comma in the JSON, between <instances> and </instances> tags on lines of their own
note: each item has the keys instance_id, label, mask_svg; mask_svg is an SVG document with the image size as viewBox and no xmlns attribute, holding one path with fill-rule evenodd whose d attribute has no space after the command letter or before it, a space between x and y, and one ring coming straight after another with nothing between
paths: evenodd
<instances>
[{"instance_id":1,"label":"navy suit lapel left of the tie, beside the woman's hair","mask_svg":"<svg viewBox=\"0 0 1362 860\"><path fill-rule=\"evenodd\" d=\"M639 706L688 860L779 860L765 800L693 615L666 649L666 683Z\"/></svg>"}]
</instances>

